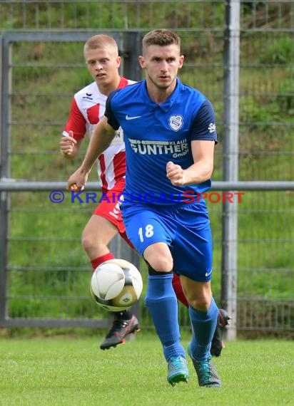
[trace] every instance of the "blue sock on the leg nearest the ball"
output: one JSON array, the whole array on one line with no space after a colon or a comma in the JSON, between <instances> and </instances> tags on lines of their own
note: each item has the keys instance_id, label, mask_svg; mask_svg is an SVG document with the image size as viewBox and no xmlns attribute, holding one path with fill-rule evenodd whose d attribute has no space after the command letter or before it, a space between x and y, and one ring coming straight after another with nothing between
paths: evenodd
<instances>
[{"instance_id":1,"label":"blue sock on the leg nearest the ball","mask_svg":"<svg viewBox=\"0 0 294 406\"><path fill-rule=\"evenodd\" d=\"M171 357L186 357L180 343L178 301L173 291L173 274L149 275L145 303L151 313L167 362Z\"/></svg>"}]
</instances>

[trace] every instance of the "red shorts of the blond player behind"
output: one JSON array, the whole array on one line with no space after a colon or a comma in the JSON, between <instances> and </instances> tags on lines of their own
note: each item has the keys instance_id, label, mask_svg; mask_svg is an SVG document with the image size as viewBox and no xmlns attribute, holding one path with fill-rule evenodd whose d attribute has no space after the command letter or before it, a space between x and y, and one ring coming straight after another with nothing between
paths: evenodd
<instances>
[{"instance_id":1,"label":"red shorts of the blond player behind","mask_svg":"<svg viewBox=\"0 0 294 406\"><path fill-rule=\"evenodd\" d=\"M101 202L98 204L93 214L104 217L105 219L108 219L109 222L114 224L118 229L119 234L121 234L128 245L133 248L133 245L130 241L128 241L128 237L126 236L126 227L123 224L119 204L119 198L123 192L125 183L125 179L121 178L118 180L118 182L116 182L112 189L102 190L103 196L101 197Z\"/></svg>"}]
</instances>

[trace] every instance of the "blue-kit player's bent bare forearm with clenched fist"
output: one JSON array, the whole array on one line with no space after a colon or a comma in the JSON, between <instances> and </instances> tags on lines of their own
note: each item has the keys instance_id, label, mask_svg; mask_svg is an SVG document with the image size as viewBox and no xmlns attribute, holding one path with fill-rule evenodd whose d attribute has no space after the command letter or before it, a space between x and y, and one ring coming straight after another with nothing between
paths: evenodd
<instances>
[{"instance_id":1,"label":"blue-kit player's bent bare forearm with clenched fist","mask_svg":"<svg viewBox=\"0 0 294 406\"><path fill-rule=\"evenodd\" d=\"M174 186L183 184L197 184L211 178L213 173L213 141L192 141L191 148L194 164L186 170L180 165L168 162L166 165L166 176Z\"/></svg>"}]
</instances>

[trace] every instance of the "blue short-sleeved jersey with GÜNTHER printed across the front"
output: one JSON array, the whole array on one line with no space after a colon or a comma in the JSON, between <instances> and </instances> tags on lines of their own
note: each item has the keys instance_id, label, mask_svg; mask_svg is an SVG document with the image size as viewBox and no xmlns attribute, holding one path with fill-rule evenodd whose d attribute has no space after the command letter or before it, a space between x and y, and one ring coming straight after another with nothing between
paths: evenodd
<instances>
[{"instance_id":1,"label":"blue short-sleeved jersey with G\u00dcNTHER printed across the front","mask_svg":"<svg viewBox=\"0 0 294 406\"><path fill-rule=\"evenodd\" d=\"M173 186L166 177L168 161L183 169L193 165L191 141L217 140L213 107L201 92L177 78L173 93L158 105L149 97L143 80L112 92L105 115L113 129L123 128L124 199L156 205L191 203L211 187L211 179Z\"/></svg>"}]
</instances>

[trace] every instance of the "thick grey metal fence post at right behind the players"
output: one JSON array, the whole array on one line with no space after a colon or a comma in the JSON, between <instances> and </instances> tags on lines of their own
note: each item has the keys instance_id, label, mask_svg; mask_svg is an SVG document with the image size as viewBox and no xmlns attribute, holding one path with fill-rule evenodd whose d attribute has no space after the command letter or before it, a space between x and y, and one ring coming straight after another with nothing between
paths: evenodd
<instances>
[{"instance_id":1,"label":"thick grey metal fence post at right behind the players","mask_svg":"<svg viewBox=\"0 0 294 406\"><path fill-rule=\"evenodd\" d=\"M238 180L238 122L240 66L240 1L225 4L224 118L223 118L223 180ZM223 204L221 302L233 320L225 331L227 340L237 335L237 254L238 208Z\"/></svg>"}]
</instances>

